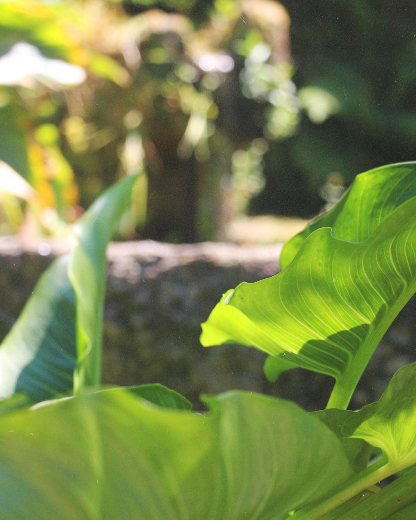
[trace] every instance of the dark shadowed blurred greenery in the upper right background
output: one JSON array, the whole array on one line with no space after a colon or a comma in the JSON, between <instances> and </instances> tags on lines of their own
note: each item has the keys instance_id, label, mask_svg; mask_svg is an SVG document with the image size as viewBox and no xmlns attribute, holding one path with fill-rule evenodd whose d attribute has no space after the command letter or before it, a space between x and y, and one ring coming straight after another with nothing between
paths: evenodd
<instances>
[{"instance_id":1,"label":"dark shadowed blurred greenery in the upper right background","mask_svg":"<svg viewBox=\"0 0 416 520\"><path fill-rule=\"evenodd\" d=\"M284 0L293 81L303 114L296 135L270 144L254 213L311 216L320 187L348 186L375 163L413 157L416 4L398 0Z\"/></svg>"}]
</instances>

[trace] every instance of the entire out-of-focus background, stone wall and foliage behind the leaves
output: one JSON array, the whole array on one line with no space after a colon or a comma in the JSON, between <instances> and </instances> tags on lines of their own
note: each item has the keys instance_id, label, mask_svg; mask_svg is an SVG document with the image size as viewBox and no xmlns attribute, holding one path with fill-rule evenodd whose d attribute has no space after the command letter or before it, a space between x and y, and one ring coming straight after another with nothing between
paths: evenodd
<instances>
[{"instance_id":1,"label":"entire out-of-focus background, stone wall and foliage behind the leaves","mask_svg":"<svg viewBox=\"0 0 416 520\"><path fill-rule=\"evenodd\" d=\"M0 336L71 223L142 172L117 235L139 242L110 254L105 378L193 399L251 388L317 408L326 378L297 371L271 385L252 349L202 349L199 323L229 287L275 274L273 244L356 174L415 159L415 145L416 4L2 1ZM357 406L413 360L406 312Z\"/></svg>"}]
</instances>

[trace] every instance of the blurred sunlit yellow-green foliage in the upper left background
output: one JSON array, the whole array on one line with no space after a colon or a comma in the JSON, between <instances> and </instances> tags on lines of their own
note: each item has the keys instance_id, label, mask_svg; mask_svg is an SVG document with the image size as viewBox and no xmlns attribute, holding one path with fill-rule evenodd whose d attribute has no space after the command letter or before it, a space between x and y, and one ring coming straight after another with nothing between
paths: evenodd
<instances>
[{"instance_id":1,"label":"blurred sunlit yellow-green foliage in the upper left background","mask_svg":"<svg viewBox=\"0 0 416 520\"><path fill-rule=\"evenodd\" d=\"M297 126L289 17L273 0L200 4L0 4L0 160L37 192L18 219L2 196L1 232L62 233L141 170L124 236L219 237L246 208L264 184L251 150Z\"/></svg>"}]
</instances>

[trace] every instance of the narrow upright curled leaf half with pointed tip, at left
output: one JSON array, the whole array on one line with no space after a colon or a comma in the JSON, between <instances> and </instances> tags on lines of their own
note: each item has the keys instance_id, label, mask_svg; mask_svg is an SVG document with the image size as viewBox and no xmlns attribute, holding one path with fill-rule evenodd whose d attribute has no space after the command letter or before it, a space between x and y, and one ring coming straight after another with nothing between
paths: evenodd
<instances>
[{"instance_id":1,"label":"narrow upright curled leaf half with pointed tip, at left","mask_svg":"<svg viewBox=\"0 0 416 520\"><path fill-rule=\"evenodd\" d=\"M106 249L130 204L136 179L137 175L129 175L111 186L74 227L78 245L70 256L68 273L76 295L75 389L100 384Z\"/></svg>"}]
</instances>

